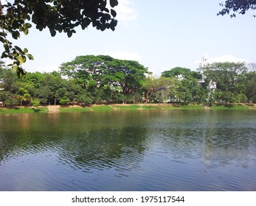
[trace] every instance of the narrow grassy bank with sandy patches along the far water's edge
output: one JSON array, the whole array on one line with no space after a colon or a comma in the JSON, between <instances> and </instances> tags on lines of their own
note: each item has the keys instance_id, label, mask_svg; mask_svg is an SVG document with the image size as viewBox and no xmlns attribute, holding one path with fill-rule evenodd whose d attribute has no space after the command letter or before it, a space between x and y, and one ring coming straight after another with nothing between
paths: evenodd
<instances>
[{"instance_id":1,"label":"narrow grassy bank with sandy patches along the far water's edge","mask_svg":"<svg viewBox=\"0 0 256 206\"><path fill-rule=\"evenodd\" d=\"M255 104L224 104L211 107L203 104L92 104L90 106L40 106L40 107L0 107L1 114L11 113L75 113L119 110L256 110Z\"/></svg>"}]
</instances>

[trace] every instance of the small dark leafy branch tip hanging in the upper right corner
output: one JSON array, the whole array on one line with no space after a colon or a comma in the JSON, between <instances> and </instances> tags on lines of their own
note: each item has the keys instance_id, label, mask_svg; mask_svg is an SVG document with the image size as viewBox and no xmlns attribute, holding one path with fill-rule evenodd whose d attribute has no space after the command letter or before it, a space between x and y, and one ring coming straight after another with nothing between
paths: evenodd
<instances>
[{"instance_id":1,"label":"small dark leafy branch tip hanging in the upper right corner","mask_svg":"<svg viewBox=\"0 0 256 206\"><path fill-rule=\"evenodd\" d=\"M226 15L229 14L230 11L233 13L230 17L235 17L235 13L245 14L247 10L255 10L256 9L256 1L255 0L226 0L224 3L220 3L221 7L224 7L217 15ZM255 15L253 15L255 17Z\"/></svg>"}]
</instances>

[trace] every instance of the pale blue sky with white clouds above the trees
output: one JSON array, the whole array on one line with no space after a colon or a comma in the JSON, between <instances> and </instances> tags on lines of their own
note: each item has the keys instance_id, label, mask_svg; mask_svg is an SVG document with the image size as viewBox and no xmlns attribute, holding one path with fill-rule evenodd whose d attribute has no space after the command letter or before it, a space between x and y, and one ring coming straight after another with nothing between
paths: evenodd
<instances>
[{"instance_id":1,"label":"pale blue sky with white clouds above the trees","mask_svg":"<svg viewBox=\"0 0 256 206\"><path fill-rule=\"evenodd\" d=\"M254 13L217 16L221 1L119 0L114 32L79 26L72 38L64 33L52 38L49 29L40 32L32 25L13 43L34 56L23 65L30 72L58 71L61 63L88 54L136 60L156 77L177 66L196 71L204 52L210 62L256 63Z\"/></svg>"}]
</instances>

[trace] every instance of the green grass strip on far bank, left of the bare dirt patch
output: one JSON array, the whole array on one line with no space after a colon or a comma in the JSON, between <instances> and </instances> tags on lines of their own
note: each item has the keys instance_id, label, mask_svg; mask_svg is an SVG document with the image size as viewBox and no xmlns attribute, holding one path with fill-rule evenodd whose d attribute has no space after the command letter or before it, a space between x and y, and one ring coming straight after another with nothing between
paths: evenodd
<instances>
[{"instance_id":1,"label":"green grass strip on far bank, left of the bare dirt patch","mask_svg":"<svg viewBox=\"0 0 256 206\"><path fill-rule=\"evenodd\" d=\"M27 108L27 107L13 107L13 108L2 108L0 109L0 114L16 114L16 113L47 113L48 109L46 107L35 107L35 108Z\"/></svg>"}]
</instances>

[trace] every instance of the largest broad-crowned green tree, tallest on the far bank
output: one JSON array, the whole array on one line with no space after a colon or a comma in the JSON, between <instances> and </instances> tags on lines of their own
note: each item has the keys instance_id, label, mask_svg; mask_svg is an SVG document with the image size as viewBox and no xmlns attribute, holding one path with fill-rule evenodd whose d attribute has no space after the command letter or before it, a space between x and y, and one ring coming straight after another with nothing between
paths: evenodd
<instances>
[{"instance_id":1,"label":"largest broad-crowned green tree, tallest on the far bank","mask_svg":"<svg viewBox=\"0 0 256 206\"><path fill-rule=\"evenodd\" d=\"M142 87L148 68L132 60L86 55L61 64L60 71L68 79L75 79L93 96L94 102L107 99L127 102Z\"/></svg>"}]
</instances>

